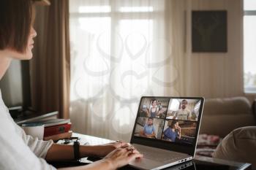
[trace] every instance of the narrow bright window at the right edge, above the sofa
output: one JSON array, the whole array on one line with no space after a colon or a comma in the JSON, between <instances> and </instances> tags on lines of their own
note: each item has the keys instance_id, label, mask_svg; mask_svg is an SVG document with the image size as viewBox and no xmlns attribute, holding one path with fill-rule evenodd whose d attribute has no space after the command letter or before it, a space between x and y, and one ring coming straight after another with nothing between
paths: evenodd
<instances>
[{"instance_id":1,"label":"narrow bright window at the right edge, above the sofa","mask_svg":"<svg viewBox=\"0 0 256 170\"><path fill-rule=\"evenodd\" d=\"M244 91L256 93L256 1L244 0Z\"/></svg>"}]
</instances>

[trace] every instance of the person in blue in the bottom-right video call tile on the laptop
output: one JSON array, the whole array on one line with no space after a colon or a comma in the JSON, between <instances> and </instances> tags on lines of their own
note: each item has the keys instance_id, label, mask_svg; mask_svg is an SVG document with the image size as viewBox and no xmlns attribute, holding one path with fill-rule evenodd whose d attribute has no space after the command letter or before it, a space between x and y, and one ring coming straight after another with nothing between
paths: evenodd
<instances>
[{"instance_id":1,"label":"person in blue in the bottom-right video call tile on the laptop","mask_svg":"<svg viewBox=\"0 0 256 170\"><path fill-rule=\"evenodd\" d=\"M173 120L169 127L165 129L163 139L175 142L176 139L181 139L181 127L178 125L177 120Z\"/></svg>"}]
</instances>

